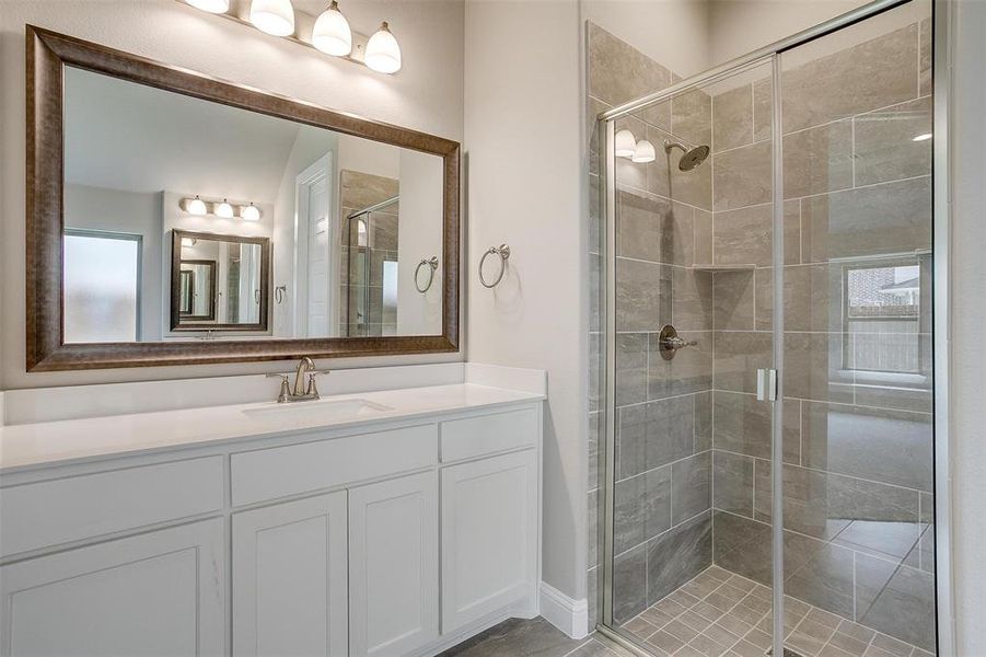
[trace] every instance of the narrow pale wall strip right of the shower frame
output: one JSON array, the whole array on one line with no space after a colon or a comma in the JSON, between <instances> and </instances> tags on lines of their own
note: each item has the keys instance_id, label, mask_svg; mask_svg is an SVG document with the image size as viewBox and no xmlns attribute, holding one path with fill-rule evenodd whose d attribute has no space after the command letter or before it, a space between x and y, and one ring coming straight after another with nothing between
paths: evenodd
<instances>
[{"instance_id":1,"label":"narrow pale wall strip right of the shower frame","mask_svg":"<svg viewBox=\"0 0 986 657\"><path fill-rule=\"evenodd\" d=\"M954 33L951 445L956 655L986 654L986 2L962 0Z\"/></svg>"}]
</instances>

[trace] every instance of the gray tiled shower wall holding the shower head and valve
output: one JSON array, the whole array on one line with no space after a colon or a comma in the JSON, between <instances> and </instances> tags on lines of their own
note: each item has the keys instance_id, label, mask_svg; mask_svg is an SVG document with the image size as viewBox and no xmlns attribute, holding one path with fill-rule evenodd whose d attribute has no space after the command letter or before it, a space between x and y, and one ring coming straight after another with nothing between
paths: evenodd
<instances>
[{"instance_id":1,"label":"gray tiled shower wall holding the shower head and valve","mask_svg":"<svg viewBox=\"0 0 986 657\"><path fill-rule=\"evenodd\" d=\"M668 87L674 74L589 23L587 107L590 145L590 622L601 555L598 468L602 425L600 299L603 292L595 116ZM654 145L649 163L616 162L616 445L615 581L617 621L635 616L711 564L712 170L682 172L665 139L711 141L711 97L694 91L618 122ZM672 164L674 162L674 164ZM673 200L672 200L673 199ZM599 284L599 285L595 285ZM697 347L673 360L657 334L674 323Z\"/></svg>"}]
</instances>

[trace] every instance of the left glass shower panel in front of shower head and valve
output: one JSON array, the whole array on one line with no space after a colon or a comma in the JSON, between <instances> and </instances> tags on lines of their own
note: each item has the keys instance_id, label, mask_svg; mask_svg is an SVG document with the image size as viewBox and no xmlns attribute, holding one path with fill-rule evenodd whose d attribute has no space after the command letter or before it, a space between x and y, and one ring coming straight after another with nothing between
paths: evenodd
<instances>
[{"instance_id":1,"label":"left glass shower panel in front of shower head and valve","mask_svg":"<svg viewBox=\"0 0 986 657\"><path fill-rule=\"evenodd\" d=\"M774 403L756 381L773 367L773 301L755 292L775 264L773 65L616 119L606 160L603 618L658 655L773 642L770 528L754 520L772 491Z\"/></svg>"}]
</instances>

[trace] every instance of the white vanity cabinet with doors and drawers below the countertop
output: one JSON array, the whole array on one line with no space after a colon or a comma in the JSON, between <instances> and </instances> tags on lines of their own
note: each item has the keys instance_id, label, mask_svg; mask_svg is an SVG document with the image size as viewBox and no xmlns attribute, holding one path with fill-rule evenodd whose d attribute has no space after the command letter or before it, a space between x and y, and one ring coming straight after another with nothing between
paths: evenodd
<instances>
[{"instance_id":1,"label":"white vanity cabinet with doors and drawers below the countertop","mask_svg":"<svg viewBox=\"0 0 986 657\"><path fill-rule=\"evenodd\" d=\"M4 471L0 655L424 657L534 615L541 417L533 400Z\"/></svg>"}]
</instances>

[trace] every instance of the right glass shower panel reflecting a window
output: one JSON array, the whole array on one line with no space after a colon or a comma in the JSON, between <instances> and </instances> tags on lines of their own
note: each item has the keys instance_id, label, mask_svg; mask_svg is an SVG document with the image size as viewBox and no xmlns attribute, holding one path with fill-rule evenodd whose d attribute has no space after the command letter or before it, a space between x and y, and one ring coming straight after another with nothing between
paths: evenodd
<instances>
[{"instance_id":1,"label":"right glass shower panel reflecting a window","mask_svg":"<svg viewBox=\"0 0 986 657\"><path fill-rule=\"evenodd\" d=\"M831 614L832 641L893 655L936 648L930 15L910 2L780 55L785 404L800 417L785 592ZM787 643L808 634L830 630Z\"/></svg>"}]
</instances>

